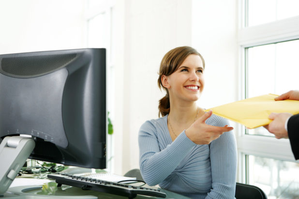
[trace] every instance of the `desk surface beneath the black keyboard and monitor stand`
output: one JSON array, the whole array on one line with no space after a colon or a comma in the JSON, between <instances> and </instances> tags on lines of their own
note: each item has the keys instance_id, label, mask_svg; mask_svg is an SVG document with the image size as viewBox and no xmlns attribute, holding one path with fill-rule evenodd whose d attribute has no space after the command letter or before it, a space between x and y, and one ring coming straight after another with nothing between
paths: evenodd
<instances>
[{"instance_id":1,"label":"desk surface beneath the black keyboard and monitor stand","mask_svg":"<svg viewBox=\"0 0 299 199\"><path fill-rule=\"evenodd\" d=\"M25 179L25 180L24 180ZM16 178L15 180L18 180ZM22 183L30 183L30 178L26 180L26 178L22 179ZM135 185L139 185L136 183ZM147 187L151 187L145 185ZM158 188L151 187L155 189L160 189L164 193L166 193L166 199L190 199L188 197L184 197L182 195ZM44 185L23 185L23 186L15 186L10 187L3 197L0 199L127 199L127 197L117 196L113 194L107 194L97 191L90 190L82 190L78 187L72 187L69 185L62 185L61 187L57 187L55 182L48 182ZM161 199L156 197L148 197L137 195L135 199Z\"/></svg>"}]
</instances>

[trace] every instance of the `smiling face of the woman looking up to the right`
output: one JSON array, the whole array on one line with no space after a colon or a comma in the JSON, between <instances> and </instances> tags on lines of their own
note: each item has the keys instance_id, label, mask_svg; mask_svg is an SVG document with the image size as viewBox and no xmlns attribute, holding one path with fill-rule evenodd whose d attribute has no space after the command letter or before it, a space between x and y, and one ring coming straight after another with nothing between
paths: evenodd
<instances>
[{"instance_id":1,"label":"smiling face of the woman looking up to the right","mask_svg":"<svg viewBox=\"0 0 299 199\"><path fill-rule=\"evenodd\" d=\"M170 97L186 101L198 100L204 88L203 71L203 63L198 55L186 57L177 71L165 77Z\"/></svg>"}]
</instances>

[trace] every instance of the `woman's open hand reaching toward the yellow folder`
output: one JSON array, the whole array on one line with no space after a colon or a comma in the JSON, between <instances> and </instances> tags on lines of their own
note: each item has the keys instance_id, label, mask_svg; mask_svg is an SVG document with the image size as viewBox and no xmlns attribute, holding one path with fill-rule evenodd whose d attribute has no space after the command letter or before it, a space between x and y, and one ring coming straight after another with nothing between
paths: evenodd
<instances>
[{"instance_id":1,"label":"woman's open hand reaching toward the yellow folder","mask_svg":"<svg viewBox=\"0 0 299 199\"><path fill-rule=\"evenodd\" d=\"M205 121L212 115L212 111L199 117L189 128L185 130L186 136L196 144L209 144L216 140L224 132L230 131L232 127L214 127L207 125Z\"/></svg>"}]
</instances>

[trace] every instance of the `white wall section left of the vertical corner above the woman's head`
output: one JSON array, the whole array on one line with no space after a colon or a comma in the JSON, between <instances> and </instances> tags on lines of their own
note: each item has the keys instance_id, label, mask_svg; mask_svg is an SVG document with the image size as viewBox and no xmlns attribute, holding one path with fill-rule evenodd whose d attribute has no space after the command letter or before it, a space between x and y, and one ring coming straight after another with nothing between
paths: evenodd
<instances>
[{"instance_id":1,"label":"white wall section left of the vertical corner above the woman's head","mask_svg":"<svg viewBox=\"0 0 299 199\"><path fill-rule=\"evenodd\" d=\"M120 0L117 6L124 16L119 16L124 42L118 43L124 57L119 55L121 67L116 64L116 106L121 116L115 120L115 172L123 174L139 168L140 126L158 117L158 100L164 96L157 86L162 57L174 47L191 45L191 0Z\"/></svg>"}]
</instances>

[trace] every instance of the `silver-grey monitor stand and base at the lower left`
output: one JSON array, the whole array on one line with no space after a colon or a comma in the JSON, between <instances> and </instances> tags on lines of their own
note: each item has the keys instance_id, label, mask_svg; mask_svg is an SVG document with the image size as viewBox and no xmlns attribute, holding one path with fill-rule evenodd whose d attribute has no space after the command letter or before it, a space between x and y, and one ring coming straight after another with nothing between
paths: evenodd
<instances>
[{"instance_id":1,"label":"silver-grey monitor stand and base at the lower left","mask_svg":"<svg viewBox=\"0 0 299 199\"><path fill-rule=\"evenodd\" d=\"M26 135L25 135L26 136ZM47 196L31 193L41 191L42 186L27 185L9 188L16 175L23 167L35 146L35 142L28 137L7 136L0 143L0 198L8 199L97 199L95 196Z\"/></svg>"}]
</instances>

